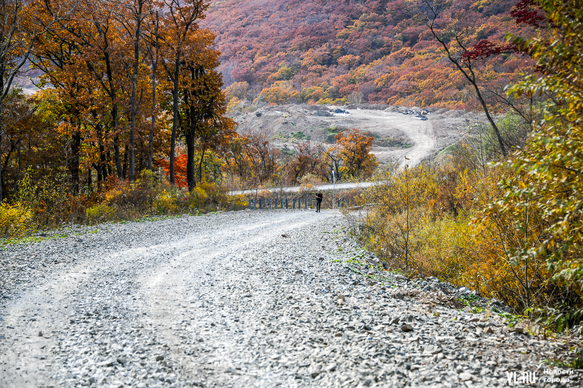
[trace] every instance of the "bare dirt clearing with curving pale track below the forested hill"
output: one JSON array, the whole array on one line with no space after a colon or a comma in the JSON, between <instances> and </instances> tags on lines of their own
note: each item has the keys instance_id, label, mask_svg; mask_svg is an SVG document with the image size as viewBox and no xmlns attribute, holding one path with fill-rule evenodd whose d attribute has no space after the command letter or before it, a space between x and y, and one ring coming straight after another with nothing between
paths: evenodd
<instances>
[{"instance_id":1,"label":"bare dirt clearing with curving pale track below the forested hill","mask_svg":"<svg viewBox=\"0 0 583 388\"><path fill-rule=\"evenodd\" d=\"M366 105L363 105L366 107ZM373 133L376 138L395 138L412 145L408 148L373 147L373 154L381 163L396 161L401 165L417 165L422 159L432 156L455 143L466 125L468 113L448 111L444 115L429 114L423 121L415 115L403 115L396 109L346 109L349 114L317 116L318 110L329 111L336 106L285 105L266 106L257 112L234 116L239 123L239 131L263 131L278 147L293 148L302 138L298 132L309 136L310 140L332 143L333 131L356 128ZM261 116L257 116L260 113ZM332 136L332 137L331 137ZM408 158L407 161L405 158ZM405 163L406 162L406 163Z\"/></svg>"}]
</instances>

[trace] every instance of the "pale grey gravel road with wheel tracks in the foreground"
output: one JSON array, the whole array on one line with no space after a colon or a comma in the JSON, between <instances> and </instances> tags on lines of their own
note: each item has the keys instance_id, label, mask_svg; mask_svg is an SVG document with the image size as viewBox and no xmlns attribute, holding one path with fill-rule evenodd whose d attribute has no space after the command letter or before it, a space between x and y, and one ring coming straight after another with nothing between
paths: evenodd
<instances>
[{"instance_id":1,"label":"pale grey gravel road with wheel tracks in the foreground","mask_svg":"<svg viewBox=\"0 0 583 388\"><path fill-rule=\"evenodd\" d=\"M335 211L79 232L0 251L0 387L557 386L564 344L383 272Z\"/></svg>"}]
</instances>

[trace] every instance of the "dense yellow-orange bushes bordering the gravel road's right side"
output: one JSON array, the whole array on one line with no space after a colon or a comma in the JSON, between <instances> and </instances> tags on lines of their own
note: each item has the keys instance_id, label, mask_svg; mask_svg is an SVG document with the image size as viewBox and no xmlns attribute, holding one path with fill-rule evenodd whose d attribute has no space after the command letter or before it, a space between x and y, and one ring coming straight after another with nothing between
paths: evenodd
<instances>
[{"instance_id":1,"label":"dense yellow-orange bushes bordering the gravel road's right side","mask_svg":"<svg viewBox=\"0 0 583 388\"><path fill-rule=\"evenodd\" d=\"M362 201L376 205L363 220L361 237L409 275L468 286L519 310L545 305L562 286L549 281L553 272L536 250L542 212L528 200L512 207L491 203L504 195L498 181L505 174L511 172L492 168L486 178L423 166L389 170L364 193ZM517 184L524 188L528 179ZM443 198L452 202L450 212Z\"/></svg>"}]
</instances>

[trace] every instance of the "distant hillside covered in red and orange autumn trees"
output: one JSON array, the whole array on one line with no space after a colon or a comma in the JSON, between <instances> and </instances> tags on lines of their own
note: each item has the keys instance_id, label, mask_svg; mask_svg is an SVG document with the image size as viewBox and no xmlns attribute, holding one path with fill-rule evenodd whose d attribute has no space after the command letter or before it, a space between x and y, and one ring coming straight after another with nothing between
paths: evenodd
<instances>
[{"instance_id":1,"label":"distant hillside covered in red and orange autumn trees","mask_svg":"<svg viewBox=\"0 0 583 388\"><path fill-rule=\"evenodd\" d=\"M511 16L516 3L446 2L437 22L465 24L465 47L506 44L508 32L531 30ZM278 105L467 107L472 90L427 28L427 7L409 0L217 1L202 25L217 32L219 69L233 107L261 104L259 97ZM483 59L477 77L498 93L533 65L511 51Z\"/></svg>"}]
</instances>

